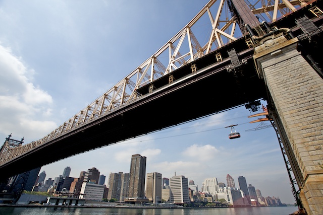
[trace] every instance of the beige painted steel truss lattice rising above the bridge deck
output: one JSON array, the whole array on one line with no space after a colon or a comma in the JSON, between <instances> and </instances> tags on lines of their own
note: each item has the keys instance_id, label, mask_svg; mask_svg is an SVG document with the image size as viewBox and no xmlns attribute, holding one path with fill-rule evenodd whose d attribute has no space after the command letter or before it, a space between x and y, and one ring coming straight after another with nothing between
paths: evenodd
<instances>
[{"instance_id":1,"label":"beige painted steel truss lattice rising above the bridge deck","mask_svg":"<svg viewBox=\"0 0 323 215\"><path fill-rule=\"evenodd\" d=\"M241 36L241 30L237 25L236 16L230 11L228 1L210 0L183 29L127 77L42 139L17 148L4 146L6 149L0 155L0 165L84 123L97 119L103 114L127 105L139 97L136 93L137 88L235 41ZM259 17L259 21L267 22L274 22L279 16L296 11L295 6L307 4L306 0L302 2L295 0L245 1L253 14Z\"/></svg>"}]
</instances>

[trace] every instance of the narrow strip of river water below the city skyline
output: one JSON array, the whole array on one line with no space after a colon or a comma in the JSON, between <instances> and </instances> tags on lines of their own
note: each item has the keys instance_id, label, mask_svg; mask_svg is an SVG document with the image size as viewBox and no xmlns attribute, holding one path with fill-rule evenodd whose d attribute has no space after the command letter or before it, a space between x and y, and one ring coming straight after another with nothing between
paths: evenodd
<instances>
[{"instance_id":1,"label":"narrow strip of river water below the city skyline","mask_svg":"<svg viewBox=\"0 0 323 215\"><path fill-rule=\"evenodd\" d=\"M289 215L297 207L243 208L63 208L0 207L0 215Z\"/></svg>"}]
</instances>

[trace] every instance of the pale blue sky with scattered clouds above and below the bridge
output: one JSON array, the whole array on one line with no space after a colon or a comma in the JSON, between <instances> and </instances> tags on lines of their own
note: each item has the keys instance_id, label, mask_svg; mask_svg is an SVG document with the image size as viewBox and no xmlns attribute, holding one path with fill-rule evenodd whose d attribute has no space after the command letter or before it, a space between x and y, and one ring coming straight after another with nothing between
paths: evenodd
<instances>
[{"instance_id":1,"label":"pale blue sky with scattered clouds above and below the bridge","mask_svg":"<svg viewBox=\"0 0 323 215\"><path fill-rule=\"evenodd\" d=\"M1 1L0 139L12 133L37 140L127 76L181 30L207 3L176 1ZM265 101L262 101L265 104ZM207 104L206 105L211 105ZM170 107L171 108L171 107ZM156 113L157 114L157 113ZM146 172L184 175L201 188L205 178L230 174L294 203L273 128L246 131L244 107L131 139L44 166L55 178L96 167L129 172L133 154ZM153 116L151 116L153 117ZM230 140L231 124L242 135Z\"/></svg>"}]
</instances>

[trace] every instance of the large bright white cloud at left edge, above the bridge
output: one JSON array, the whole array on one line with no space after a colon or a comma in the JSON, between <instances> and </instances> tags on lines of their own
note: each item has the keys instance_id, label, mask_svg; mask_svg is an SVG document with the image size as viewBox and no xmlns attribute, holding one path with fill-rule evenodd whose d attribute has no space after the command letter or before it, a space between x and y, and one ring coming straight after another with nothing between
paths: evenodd
<instances>
[{"instance_id":1,"label":"large bright white cloud at left edge, above the bridge","mask_svg":"<svg viewBox=\"0 0 323 215\"><path fill-rule=\"evenodd\" d=\"M55 122L44 119L51 115L51 96L31 82L34 70L2 45L0 71L0 132L35 140L55 129Z\"/></svg>"}]
</instances>

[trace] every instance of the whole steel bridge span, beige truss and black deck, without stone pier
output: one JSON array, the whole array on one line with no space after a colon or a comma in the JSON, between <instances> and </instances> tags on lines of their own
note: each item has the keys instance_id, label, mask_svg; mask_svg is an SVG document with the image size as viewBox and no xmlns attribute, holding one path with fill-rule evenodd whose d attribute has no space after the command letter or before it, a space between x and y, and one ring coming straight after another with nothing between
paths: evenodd
<instances>
[{"instance_id":1,"label":"whole steel bridge span, beige truss and black deck, without stone pier","mask_svg":"<svg viewBox=\"0 0 323 215\"><path fill-rule=\"evenodd\" d=\"M256 36L266 34L266 27L289 28L310 50L315 66L321 8L321 0L211 0L163 47L57 129L25 145L5 142L1 177L267 100L253 60L256 41L245 25Z\"/></svg>"}]
</instances>

